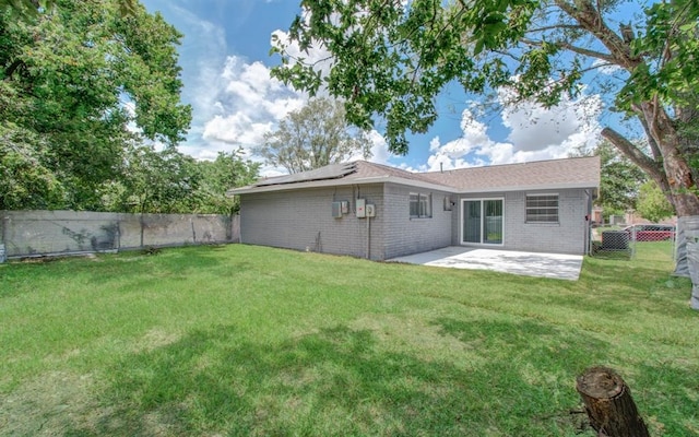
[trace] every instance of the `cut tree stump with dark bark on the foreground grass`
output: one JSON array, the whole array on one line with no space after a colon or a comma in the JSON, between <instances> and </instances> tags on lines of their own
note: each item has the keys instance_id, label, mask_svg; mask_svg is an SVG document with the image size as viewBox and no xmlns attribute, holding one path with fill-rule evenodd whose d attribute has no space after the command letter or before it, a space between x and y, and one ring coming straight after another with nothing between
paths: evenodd
<instances>
[{"instance_id":1,"label":"cut tree stump with dark bark on the foreground grass","mask_svg":"<svg viewBox=\"0 0 699 437\"><path fill-rule=\"evenodd\" d=\"M631 390L616 371L592 367L577 379L590 424L600 437L650 437Z\"/></svg>"}]
</instances>

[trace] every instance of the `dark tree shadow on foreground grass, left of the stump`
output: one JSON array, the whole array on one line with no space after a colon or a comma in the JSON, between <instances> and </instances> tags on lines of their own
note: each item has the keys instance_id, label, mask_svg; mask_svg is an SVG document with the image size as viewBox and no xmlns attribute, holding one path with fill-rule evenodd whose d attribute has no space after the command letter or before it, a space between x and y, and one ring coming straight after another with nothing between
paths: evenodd
<instances>
[{"instance_id":1,"label":"dark tree shadow on foreground grass, left of the stump","mask_svg":"<svg viewBox=\"0 0 699 437\"><path fill-rule=\"evenodd\" d=\"M437 324L486 364L384 351L374 332L344 326L281 344L218 327L118 363L98 420L70 434L576 434L572 375L604 344L535 322Z\"/></svg>"}]
</instances>

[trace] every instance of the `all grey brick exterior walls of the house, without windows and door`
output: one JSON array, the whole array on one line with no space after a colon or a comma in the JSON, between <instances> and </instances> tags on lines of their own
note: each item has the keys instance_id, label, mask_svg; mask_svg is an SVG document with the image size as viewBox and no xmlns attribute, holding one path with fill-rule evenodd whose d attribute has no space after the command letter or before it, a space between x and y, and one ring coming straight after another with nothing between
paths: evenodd
<instances>
[{"instance_id":1,"label":"all grey brick exterior walls of the house, without windows and door","mask_svg":"<svg viewBox=\"0 0 699 437\"><path fill-rule=\"evenodd\" d=\"M411 218L410 193L431 194L431 217ZM525 223L526 194L558 193L556 224ZM445 198L455 205L445 211ZM376 205L376 217L355 216L356 199ZM583 189L457 196L395 184L341 186L247 193L240 202L240 240L245 244L348 255L374 260L461 244L461 200L503 198L508 250L584 253L588 197ZM331 214L333 201L348 201L350 213ZM369 247L370 246L370 247ZM369 252L369 253L367 253Z\"/></svg>"}]
</instances>

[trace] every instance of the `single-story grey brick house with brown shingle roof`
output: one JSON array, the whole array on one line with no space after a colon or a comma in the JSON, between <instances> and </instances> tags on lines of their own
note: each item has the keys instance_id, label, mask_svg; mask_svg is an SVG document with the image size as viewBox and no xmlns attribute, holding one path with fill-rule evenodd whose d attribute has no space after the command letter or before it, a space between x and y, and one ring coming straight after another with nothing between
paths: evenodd
<instances>
[{"instance_id":1,"label":"single-story grey brick house with brown shingle roof","mask_svg":"<svg viewBox=\"0 0 699 437\"><path fill-rule=\"evenodd\" d=\"M600 160L411 173L357 161L236 188L240 241L386 260L446 246L587 253Z\"/></svg>"}]
</instances>

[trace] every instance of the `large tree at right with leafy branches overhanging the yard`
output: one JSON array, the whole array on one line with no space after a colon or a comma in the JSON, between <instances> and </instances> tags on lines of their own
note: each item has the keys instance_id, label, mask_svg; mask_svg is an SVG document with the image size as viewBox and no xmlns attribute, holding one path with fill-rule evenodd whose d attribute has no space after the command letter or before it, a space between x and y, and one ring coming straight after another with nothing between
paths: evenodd
<instances>
[{"instance_id":1,"label":"large tree at right with leafy branches overhanging the yard","mask_svg":"<svg viewBox=\"0 0 699 437\"><path fill-rule=\"evenodd\" d=\"M612 127L603 137L661 187L680 224L699 221L699 147L690 133L699 102L698 2L301 0L301 7L291 42L328 50L330 73L277 38L282 64L274 74L311 94L322 86L344 97L350 120L363 128L384 118L395 153L407 151L406 130L425 132L435 121L434 97L449 83L477 94L507 87L518 99L552 106L579 93L585 73L605 68L614 81L597 91L614 101L608 110L638 122L649 147ZM643 13L617 21L632 8Z\"/></svg>"}]
</instances>

